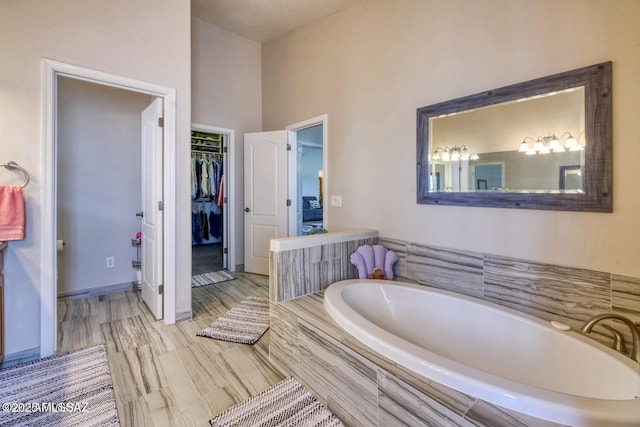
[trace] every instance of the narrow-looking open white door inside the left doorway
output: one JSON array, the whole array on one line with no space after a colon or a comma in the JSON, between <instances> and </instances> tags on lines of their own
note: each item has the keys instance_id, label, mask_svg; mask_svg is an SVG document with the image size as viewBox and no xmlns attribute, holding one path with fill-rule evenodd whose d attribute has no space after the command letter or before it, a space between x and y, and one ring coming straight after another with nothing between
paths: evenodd
<instances>
[{"instance_id":1,"label":"narrow-looking open white door inside the left doorway","mask_svg":"<svg viewBox=\"0 0 640 427\"><path fill-rule=\"evenodd\" d=\"M162 319L162 99L142 112L142 299Z\"/></svg>"}]
</instances>

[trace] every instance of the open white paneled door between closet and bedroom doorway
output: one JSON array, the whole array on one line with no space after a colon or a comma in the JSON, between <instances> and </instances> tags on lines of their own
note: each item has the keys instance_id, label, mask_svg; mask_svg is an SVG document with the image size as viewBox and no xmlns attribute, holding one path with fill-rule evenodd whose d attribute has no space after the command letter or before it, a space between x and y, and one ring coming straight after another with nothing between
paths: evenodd
<instances>
[{"instance_id":1,"label":"open white paneled door between closet and bedroom doorway","mask_svg":"<svg viewBox=\"0 0 640 427\"><path fill-rule=\"evenodd\" d=\"M287 236L285 131L244 136L244 271L269 274L269 242Z\"/></svg>"}]
</instances>

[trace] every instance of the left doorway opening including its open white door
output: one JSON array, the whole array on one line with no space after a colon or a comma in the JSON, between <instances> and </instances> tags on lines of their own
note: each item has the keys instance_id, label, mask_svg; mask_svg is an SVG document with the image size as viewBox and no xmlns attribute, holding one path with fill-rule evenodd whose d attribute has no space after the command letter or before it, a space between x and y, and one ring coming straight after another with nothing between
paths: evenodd
<instances>
[{"instance_id":1,"label":"left doorway opening including its open white door","mask_svg":"<svg viewBox=\"0 0 640 427\"><path fill-rule=\"evenodd\" d=\"M161 319L162 100L64 76L57 88L58 298L133 288Z\"/></svg>"}]
</instances>

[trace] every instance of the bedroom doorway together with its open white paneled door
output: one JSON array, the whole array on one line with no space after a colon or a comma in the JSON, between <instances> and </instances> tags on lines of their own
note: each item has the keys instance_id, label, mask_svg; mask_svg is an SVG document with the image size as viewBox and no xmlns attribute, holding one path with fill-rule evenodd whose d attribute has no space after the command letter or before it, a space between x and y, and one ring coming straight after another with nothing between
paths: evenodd
<instances>
[{"instance_id":1,"label":"bedroom doorway together with its open white paneled door","mask_svg":"<svg viewBox=\"0 0 640 427\"><path fill-rule=\"evenodd\" d=\"M328 228L328 212L320 204L328 188L327 123L328 117L324 114L287 126L285 131L244 135L244 271L268 274L272 239L311 234L310 230L303 231L303 197L317 202L314 209L318 215L313 219L307 217L308 222L313 221L318 231ZM316 162L309 167L312 177L306 191L313 195L306 196L302 185L304 166L300 160L305 149L299 141L307 139L305 129L314 127L312 133L320 135L318 139L322 141L314 144L318 149L322 147L318 150L322 164ZM302 151L298 150L299 146ZM307 206L311 208L310 203Z\"/></svg>"}]
</instances>

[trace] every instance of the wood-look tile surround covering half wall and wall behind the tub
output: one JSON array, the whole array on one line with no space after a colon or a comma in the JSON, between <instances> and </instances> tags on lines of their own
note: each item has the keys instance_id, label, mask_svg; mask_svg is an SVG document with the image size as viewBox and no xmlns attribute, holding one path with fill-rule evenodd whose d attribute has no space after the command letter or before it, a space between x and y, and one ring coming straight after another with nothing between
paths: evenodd
<instances>
[{"instance_id":1,"label":"wood-look tile surround covering half wall and wall behind the tub","mask_svg":"<svg viewBox=\"0 0 640 427\"><path fill-rule=\"evenodd\" d=\"M272 240L270 301L287 301L356 278L350 255L360 245L376 243L398 254L394 271L400 281L447 289L573 328L609 311L640 322L640 277L378 238L375 230ZM608 342L609 333L600 327L596 332Z\"/></svg>"}]
</instances>

